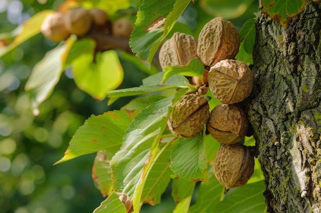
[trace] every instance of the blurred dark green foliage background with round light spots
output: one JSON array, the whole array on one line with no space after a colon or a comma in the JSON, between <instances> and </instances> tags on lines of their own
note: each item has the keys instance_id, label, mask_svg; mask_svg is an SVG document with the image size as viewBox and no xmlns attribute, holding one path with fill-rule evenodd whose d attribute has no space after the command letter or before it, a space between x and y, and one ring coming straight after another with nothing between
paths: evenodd
<instances>
[{"instance_id":1,"label":"blurred dark green foliage background with round light spots","mask_svg":"<svg viewBox=\"0 0 321 213\"><path fill-rule=\"evenodd\" d=\"M0 0L0 40L35 13L57 10L64 2ZM140 3L132 1L132 8ZM239 30L248 18L255 17L257 7L254 0L236 5L231 0L198 0L179 22L195 37L214 16L224 16ZM55 45L38 34L0 58L0 213L92 212L105 200L91 178L95 154L53 163L63 157L73 134L91 114L119 109L131 98L119 99L111 106L107 100L97 102L76 87L66 70L51 96L39 106L40 114L34 116L24 86L33 66ZM119 58L125 73L119 88L141 85L147 74ZM142 212L171 212L175 204L170 193L169 188L162 204L152 209L146 205Z\"/></svg>"}]
</instances>

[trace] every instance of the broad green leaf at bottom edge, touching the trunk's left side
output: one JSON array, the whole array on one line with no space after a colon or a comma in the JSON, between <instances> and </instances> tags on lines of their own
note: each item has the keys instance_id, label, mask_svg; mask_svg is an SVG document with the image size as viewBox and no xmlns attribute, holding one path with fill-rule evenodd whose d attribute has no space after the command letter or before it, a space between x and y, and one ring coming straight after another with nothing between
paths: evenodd
<instances>
[{"instance_id":1,"label":"broad green leaf at bottom edge, touching the trunk's left side","mask_svg":"<svg viewBox=\"0 0 321 213\"><path fill-rule=\"evenodd\" d=\"M217 203L215 212L221 213L265 213L266 203L263 193L265 191L264 181L245 184L236 188L231 195L226 194L227 199Z\"/></svg>"}]
</instances>

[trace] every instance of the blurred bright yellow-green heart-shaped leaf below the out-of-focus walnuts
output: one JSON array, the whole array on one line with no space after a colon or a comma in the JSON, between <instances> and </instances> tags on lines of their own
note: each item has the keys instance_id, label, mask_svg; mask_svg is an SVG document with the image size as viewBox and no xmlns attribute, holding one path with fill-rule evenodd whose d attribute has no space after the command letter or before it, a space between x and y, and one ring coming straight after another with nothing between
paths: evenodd
<instances>
[{"instance_id":1,"label":"blurred bright yellow-green heart-shaped leaf below the out-of-focus walnuts","mask_svg":"<svg viewBox=\"0 0 321 213\"><path fill-rule=\"evenodd\" d=\"M106 91L117 88L124 78L124 70L114 50L96 53L84 53L72 61L72 70L76 85L101 101Z\"/></svg>"}]
</instances>

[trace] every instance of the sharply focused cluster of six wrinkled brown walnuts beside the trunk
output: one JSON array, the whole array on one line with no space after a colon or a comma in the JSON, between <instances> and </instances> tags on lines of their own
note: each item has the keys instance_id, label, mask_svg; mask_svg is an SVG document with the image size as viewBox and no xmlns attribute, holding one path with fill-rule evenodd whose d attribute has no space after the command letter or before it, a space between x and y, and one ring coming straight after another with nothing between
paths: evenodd
<instances>
[{"instance_id":1,"label":"sharply focused cluster of six wrinkled brown walnuts beside the trunk","mask_svg":"<svg viewBox=\"0 0 321 213\"><path fill-rule=\"evenodd\" d=\"M188 34L174 33L159 52L163 71L167 65L186 65L195 57L205 67L204 83L197 77L189 79L197 90L177 102L168 127L173 135L189 138L202 132L206 125L213 138L223 144L216 154L214 173L226 190L244 185L254 172L254 156L248 147L238 143L249 127L246 113L238 103L244 101L253 88L251 69L234 59L239 45L233 23L216 17L206 23L198 40ZM211 112L204 97L207 86L222 103Z\"/></svg>"}]
</instances>

